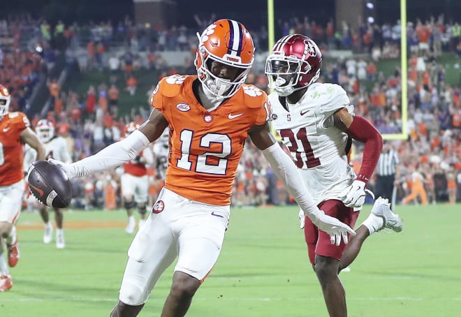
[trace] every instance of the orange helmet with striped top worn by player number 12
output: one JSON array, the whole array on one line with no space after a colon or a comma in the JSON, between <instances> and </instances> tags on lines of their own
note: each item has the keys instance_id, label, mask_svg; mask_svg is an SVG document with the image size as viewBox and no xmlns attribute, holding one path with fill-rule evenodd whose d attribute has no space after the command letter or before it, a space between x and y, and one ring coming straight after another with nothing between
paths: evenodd
<instances>
[{"instance_id":1,"label":"orange helmet with striped top worn by player number 12","mask_svg":"<svg viewBox=\"0 0 461 317\"><path fill-rule=\"evenodd\" d=\"M234 20L218 20L200 36L194 64L203 87L219 99L229 98L247 79L254 61L253 39L244 25ZM239 69L235 80L219 78L210 71L212 61Z\"/></svg>"}]
</instances>

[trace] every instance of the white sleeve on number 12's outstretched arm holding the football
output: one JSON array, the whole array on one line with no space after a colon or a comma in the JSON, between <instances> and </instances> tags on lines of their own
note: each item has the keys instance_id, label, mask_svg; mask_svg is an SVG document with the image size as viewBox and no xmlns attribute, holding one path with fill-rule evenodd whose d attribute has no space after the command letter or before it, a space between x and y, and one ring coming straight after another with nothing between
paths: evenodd
<instances>
[{"instance_id":1,"label":"white sleeve on number 12's outstretched arm holding the football","mask_svg":"<svg viewBox=\"0 0 461 317\"><path fill-rule=\"evenodd\" d=\"M116 168L135 158L147 145L149 145L147 136L136 130L124 140L115 142L92 156L70 164L68 176L69 178L83 177L94 172Z\"/></svg>"}]
</instances>

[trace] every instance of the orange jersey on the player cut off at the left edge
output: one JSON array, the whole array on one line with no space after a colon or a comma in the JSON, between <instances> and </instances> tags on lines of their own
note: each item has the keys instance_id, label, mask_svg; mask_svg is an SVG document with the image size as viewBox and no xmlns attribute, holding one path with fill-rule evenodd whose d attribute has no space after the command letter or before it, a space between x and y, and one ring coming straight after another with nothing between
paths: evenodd
<instances>
[{"instance_id":1,"label":"orange jersey on the player cut off at the left edge","mask_svg":"<svg viewBox=\"0 0 461 317\"><path fill-rule=\"evenodd\" d=\"M0 119L0 186L8 186L24 178L21 133L30 126L22 112L8 112Z\"/></svg>"}]
</instances>

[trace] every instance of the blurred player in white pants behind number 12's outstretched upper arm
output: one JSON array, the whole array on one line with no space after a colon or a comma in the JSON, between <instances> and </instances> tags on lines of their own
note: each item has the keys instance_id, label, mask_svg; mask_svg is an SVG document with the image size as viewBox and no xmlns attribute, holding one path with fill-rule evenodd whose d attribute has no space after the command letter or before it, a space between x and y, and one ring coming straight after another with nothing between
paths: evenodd
<instances>
[{"instance_id":1,"label":"blurred player in white pants behind number 12's outstretched upper arm","mask_svg":"<svg viewBox=\"0 0 461 317\"><path fill-rule=\"evenodd\" d=\"M138 124L130 122L125 126L125 136L128 137L131 133L139 128ZM133 216L133 207L138 207L139 223L138 228L141 228L145 223L147 212L147 200L149 196L149 180L147 177L146 165L154 163L154 154L150 147L143 149L131 161L124 163L124 173L120 177L122 183L122 193L124 197L124 205L126 214L128 215L128 224L125 232L129 235L134 233L136 221Z\"/></svg>"}]
</instances>

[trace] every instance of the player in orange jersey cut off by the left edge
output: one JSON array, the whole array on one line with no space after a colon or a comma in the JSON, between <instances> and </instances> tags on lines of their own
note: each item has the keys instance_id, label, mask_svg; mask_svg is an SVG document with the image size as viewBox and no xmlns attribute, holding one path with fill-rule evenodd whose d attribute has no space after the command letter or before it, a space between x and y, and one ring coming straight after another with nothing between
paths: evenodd
<instances>
[{"instance_id":1,"label":"player in orange jersey cut off by the left edge","mask_svg":"<svg viewBox=\"0 0 461 317\"><path fill-rule=\"evenodd\" d=\"M26 115L8 112L10 101L8 89L0 84L0 292L13 286L1 240L5 239L10 267L14 267L20 258L15 222L20 214L25 186L23 145L36 149L38 159L45 158L45 146L30 128Z\"/></svg>"}]
</instances>

